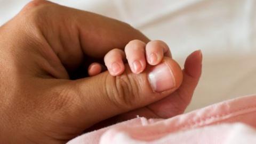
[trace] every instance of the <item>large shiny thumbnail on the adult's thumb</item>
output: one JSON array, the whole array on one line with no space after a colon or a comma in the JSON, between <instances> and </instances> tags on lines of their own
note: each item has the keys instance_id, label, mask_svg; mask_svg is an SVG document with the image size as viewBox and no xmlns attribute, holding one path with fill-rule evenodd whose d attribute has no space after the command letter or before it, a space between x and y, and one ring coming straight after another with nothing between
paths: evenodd
<instances>
[{"instance_id":1,"label":"large shiny thumbnail on the adult's thumb","mask_svg":"<svg viewBox=\"0 0 256 144\"><path fill-rule=\"evenodd\" d=\"M148 74L148 80L154 91L162 92L175 87L175 79L166 63L159 64Z\"/></svg>"}]
</instances>

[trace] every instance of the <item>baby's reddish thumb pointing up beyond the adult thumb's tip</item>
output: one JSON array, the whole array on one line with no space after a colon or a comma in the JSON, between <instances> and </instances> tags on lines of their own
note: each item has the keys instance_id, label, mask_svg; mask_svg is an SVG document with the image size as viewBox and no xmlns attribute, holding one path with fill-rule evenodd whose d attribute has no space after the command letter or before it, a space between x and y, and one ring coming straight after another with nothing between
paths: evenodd
<instances>
[{"instance_id":1,"label":"baby's reddish thumb pointing up beyond the adult thumb's tip","mask_svg":"<svg viewBox=\"0 0 256 144\"><path fill-rule=\"evenodd\" d=\"M154 112L162 118L169 118L182 114L194 94L197 83L202 73L202 53L197 50L191 53L185 62L183 69L183 81L179 89L170 96L147 106L151 112Z\"/></svg>"}]
</instances>

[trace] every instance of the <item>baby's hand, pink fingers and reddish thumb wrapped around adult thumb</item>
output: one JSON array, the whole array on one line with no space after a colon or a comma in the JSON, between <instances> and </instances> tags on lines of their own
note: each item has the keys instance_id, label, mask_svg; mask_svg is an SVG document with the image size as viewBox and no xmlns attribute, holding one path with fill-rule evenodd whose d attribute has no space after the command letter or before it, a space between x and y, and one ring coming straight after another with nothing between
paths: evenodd
<instances>
[{"instance_id":1,"label":"baby's hand, pink fingers and reddish thumb wrapped around adult thumb","mask_svg":"<svg viewBox=\"0 0 256 144\"><path fill-rule=\"evenodd\" d=\"M135 47L135 49L134 49ZM139 48L138 48L139 47ZM138 50L139 49L139 50ZM142 50L141 50L142 49ZM153 58L154 61L150 60L150 55L155 53L157 58ZM142 69L140 71L132 71L132 65L129 63L129 69L133 73L141 73L146 69L146 65L157 65L164 60L164 57L172 58L169 47L164 41L152 40L147 44L141 40L132 40L126 46L124 50L112 49L105 55L105 65L111 75L117 76L125 71L125 62L132 63L133 61L141 61ZM111 63L119 63L121 69L118 73L111 71ZM93 68L88 69L91 73L90 76L99 74L104 66L100 63L92 63ZM197 85L199 77L201 76L202 70L202 53L201 50L197 50L191 53L185 62L185 69L183 70L183 83L180 88L173 92L170 96L157 101L156 103L148 106L130 111L121 115L114 116L94 125L90 130L99 129L103 126L115 124L137 117L137 115L144 116L147 118L170 118L178 114L182 114L187 105L189 104L193 95L194 89Z\"/></svg>"}]
</instances>

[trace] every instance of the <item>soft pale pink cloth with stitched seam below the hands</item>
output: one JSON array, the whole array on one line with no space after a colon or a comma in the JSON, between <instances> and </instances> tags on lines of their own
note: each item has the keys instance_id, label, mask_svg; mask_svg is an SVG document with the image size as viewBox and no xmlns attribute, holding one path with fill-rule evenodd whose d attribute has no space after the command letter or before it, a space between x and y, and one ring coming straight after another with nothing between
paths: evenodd
<instances>
[{"instance_id":1,"label":"soft pale pink cloth with stitched seam below the hands","mask_svg":"<svg viewBox=\"0 0 256 144\"><path fill-rule=\"evenodd\" d=\"M166 120L137 117L85 133L74 143L256 143L256 95Z\"/></svg>"}]
</instances>

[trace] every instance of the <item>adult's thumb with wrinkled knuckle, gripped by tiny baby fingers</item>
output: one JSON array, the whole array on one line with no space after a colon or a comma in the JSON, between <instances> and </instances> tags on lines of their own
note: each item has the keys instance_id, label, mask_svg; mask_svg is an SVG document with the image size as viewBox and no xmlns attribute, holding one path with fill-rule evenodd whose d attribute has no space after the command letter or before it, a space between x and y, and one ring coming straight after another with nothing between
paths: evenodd
<instances>
[{"instance_id":1,"label":"adult's thumb with wrinkled knuckle, gripped by tiny baby fingers","mask_svg":"<svg viewBox=\"0 0 256 144\"><path fill-rule=\"evenodd\" d=\"M162 63L148 66L140 74L131 72L125 65L125 72L117 77L107 71L94 77L71 82L79 91L77 98L80 111L79 121L86 128L109 117L146 106L179 88L182 71L177 62L164 57ZM82 107L82 108L81 108ZM82 109L82 111L81 111ZM82 117L81 117L82 116Z\"/></svg>"}]
</instances>

